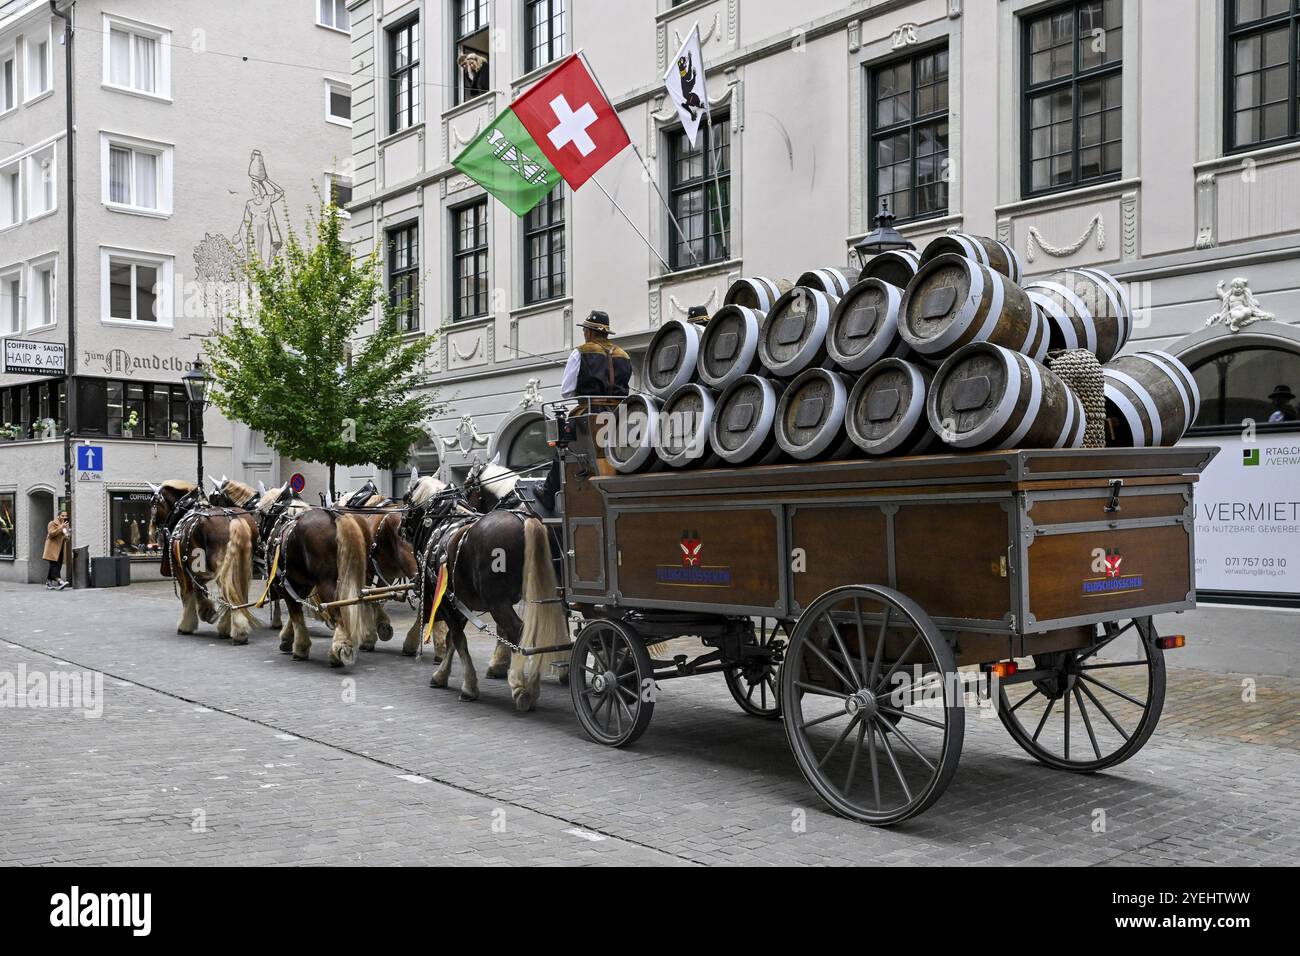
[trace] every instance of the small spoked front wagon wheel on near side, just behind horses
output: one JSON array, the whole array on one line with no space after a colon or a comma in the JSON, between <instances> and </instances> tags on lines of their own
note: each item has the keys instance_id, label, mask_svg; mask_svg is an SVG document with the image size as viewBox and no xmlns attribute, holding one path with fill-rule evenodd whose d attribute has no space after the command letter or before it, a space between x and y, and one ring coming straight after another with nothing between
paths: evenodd
<instances>
[{"instance_id":1,"label":"small spoked front wagon wheel on near side, just behind horses","mask_svg":"<svg viewBox=\"0 0 1300 956\"><path fill-rule=\"evenodd\" d=\"M654 714L654 676L641 636L618 620L592 620L569 657L569 693L582 730L598 744L627 747Z\"/></svg>"}]
</instances>

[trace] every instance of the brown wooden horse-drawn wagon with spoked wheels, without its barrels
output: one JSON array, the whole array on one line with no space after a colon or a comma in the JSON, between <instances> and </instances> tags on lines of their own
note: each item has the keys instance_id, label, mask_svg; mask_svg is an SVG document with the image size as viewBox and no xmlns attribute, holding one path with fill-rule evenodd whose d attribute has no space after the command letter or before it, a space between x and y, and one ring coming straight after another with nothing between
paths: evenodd
<instances>
[{"instance_id":1,"label":"brown wooden horse-drawn wagon with spoked wheels, without its barrels","mask_svg":"<svg viewBox=\"0 0 1300 956\"><path fill-rule=\"evenodd\" d=\"M1153 615L1195 606L1192 486L1214 449L1054 449L615 475L554 420L569 687L595 741L660 682L725 675L783 717L836 812L896 823L958 762L968 700L1048 766L1136 753L1165 697ZM693 637L694 657L655 645Z\"/></svg>"}]
</instances>

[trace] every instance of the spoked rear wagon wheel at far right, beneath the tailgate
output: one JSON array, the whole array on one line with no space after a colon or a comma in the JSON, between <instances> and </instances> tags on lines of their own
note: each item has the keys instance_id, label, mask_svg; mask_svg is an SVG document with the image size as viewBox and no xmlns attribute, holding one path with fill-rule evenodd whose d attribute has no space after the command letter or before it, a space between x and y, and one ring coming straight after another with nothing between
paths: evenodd
<instances>
[{"instance_id":1,"label":"spoked rear wagon wheel at far right, beneath the tailgate","mask_svg":"<svg viewBox=\"0 0 1300 956\"><path fill-rule=\"evenodd\" d=\"M1049 767L1087 774L1128 760L1165 706L1165 652L1156 641L1150 618L1122 627L1108 620L1091 648L1036 654L1022 680L1001 684L997 715Z\"/></svg>"}]
</instances>

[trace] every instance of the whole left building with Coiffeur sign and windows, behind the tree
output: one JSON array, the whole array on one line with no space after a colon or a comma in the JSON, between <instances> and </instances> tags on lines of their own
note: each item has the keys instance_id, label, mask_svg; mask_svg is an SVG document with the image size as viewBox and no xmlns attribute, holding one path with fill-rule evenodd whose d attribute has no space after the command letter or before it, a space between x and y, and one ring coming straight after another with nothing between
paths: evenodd
<instances>
[{"instance_id":1,"label":"whole left building with Coiffeur sign and windows, behind the tree","mask_svg":"<svg viewBox=\"0 0 1300 956\"><path fill-rule=\"evenodd\" d=\"M0 5L0 580L44 578L66 429L73 545L156 559L148 483L195 479L181 376L240 259L347 199L347 48L343 0ZM204 438L209 473L322 486L213 408Z\"/></svg>"}]
</instances>

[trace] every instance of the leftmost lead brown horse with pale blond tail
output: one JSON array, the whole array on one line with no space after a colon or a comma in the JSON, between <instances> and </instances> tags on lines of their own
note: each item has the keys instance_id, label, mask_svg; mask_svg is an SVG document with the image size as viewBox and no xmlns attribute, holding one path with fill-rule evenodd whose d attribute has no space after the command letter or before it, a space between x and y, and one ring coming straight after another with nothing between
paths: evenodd
<instances>
[{"instance_id":1,"label":"leftmost lead brown horse with pale blond tail","mask_svg":"<svg viewBox=\"0 0 1300 956\"><path fill-rule=\"evenodd\" d=\"M247 644L256 624L244 607L257 535L255 518L243 509L209 505L187 481L169 479L150 488L150 533L162 545L162 575L176 579L181 594L177 633L194 633L203 619L233 644ZM208 591L213 581L220 602L213 602Z\"/></svg>"}]
</instances>

